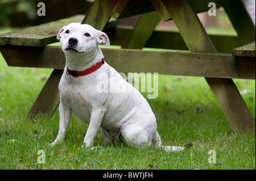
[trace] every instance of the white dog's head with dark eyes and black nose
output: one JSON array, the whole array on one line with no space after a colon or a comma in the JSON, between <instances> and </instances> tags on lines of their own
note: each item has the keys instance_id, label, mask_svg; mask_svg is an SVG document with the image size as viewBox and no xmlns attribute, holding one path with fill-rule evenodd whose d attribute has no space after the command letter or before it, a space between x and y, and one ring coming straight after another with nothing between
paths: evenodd
<instances>
[{"instance_id":1,"label":"white dog's head with dark eyes and black nose","mask_svg":"<svg viewBox=\"0 0 256 181\"><path fill-rule=\"evenodd\" d=\"M87 53L98 44L109 47L109 37L106 33L96 30L89 24L70 23L60 29L57 34L64 53Z\"/></svg>"}]
</instances>

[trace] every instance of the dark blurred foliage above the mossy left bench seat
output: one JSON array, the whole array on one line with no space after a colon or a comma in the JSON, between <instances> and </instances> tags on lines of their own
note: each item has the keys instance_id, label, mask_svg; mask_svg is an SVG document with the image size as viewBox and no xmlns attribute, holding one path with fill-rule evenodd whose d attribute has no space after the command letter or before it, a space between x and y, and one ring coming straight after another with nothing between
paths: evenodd
<instances>
[{"instance_id":1,"label":"dark blurred foliage above the mossy left bench seat","mask_svg":"<svg viewBox=\"0 0 256 181\"><path fill-rule=\"evenodd\" d=\"M38 3L46 16L38 16ZM86 14L92 2L86 0L0 0L0 27L34 26L77 14Z\"/></svg>"}]
</instances>

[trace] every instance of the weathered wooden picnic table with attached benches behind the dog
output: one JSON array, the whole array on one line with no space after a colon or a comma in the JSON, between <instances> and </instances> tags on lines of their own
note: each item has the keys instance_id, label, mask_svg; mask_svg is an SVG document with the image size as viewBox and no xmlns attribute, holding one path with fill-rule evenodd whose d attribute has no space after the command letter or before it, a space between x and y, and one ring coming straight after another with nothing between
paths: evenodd
<instances>
[{"instance_id":1,"label":"weathered wooden picnic table with attached benches behind the dog","mask_svg":"<svg viewBox=\"0 0 256 181\"><path fill-rule=\"evenodd\" d=\"M224 7L238 36L207 34L196 13L208 11L209 2ZM134 27L118 26L118 19L133 15L140 15ZM155 31L160 19L174 20L179 33ZM119 72L205 77L232 129L255 131L255 120L232 80L255 79L255 26L241 0L95 0L86 16L0 35L0 51L9 66L54 69L29 116L52 115L59 104L65 56L60 47L48 44L56 42L57 32L71 22L90 24L105 31L112 44L122 45L122 49L102 48L108 63ZM141 50L143 47L190 52Z\"/></svg>"}]
</instances>

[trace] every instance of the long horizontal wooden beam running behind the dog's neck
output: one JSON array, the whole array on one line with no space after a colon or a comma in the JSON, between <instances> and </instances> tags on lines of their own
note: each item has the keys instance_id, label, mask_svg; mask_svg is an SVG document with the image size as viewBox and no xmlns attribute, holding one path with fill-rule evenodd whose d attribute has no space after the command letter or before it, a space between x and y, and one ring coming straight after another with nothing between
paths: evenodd
<instances>
[{"instance_id":1,"label":"long horizontal wooden beam running behind the dog's neck","mask_svg":"<svg viewBox=\"0 0 256 181\"><path fill-rule=\"evenodd\" d=\"M64 69L60 47L0 46L9 66ZM105 60L123 73L144 72L213 78L255 79L255 59L231 54L102 48ZM138 64L139 62L139 64Z\"/></svg>"}]
</instances>

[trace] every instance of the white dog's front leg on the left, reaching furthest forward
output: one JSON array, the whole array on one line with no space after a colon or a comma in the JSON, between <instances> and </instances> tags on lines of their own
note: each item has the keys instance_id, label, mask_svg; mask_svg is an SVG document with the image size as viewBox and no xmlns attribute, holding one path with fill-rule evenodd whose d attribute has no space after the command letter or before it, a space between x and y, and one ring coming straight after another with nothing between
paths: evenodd
<instances>
[{"instance_id":1,"label":"white dog's front leg on the left, reaching furthest forward","mask_svg":"<svg viewBox=\"0 0 256 181\"><path fill-rule=\"evenodd\" d=\"M64 139L69 121L71 119L72 109L60 101L59 113L60 113L59 132L55 141L53 141L52 144L50 144L52 146Z\"/></svg>"}]
</instances>

